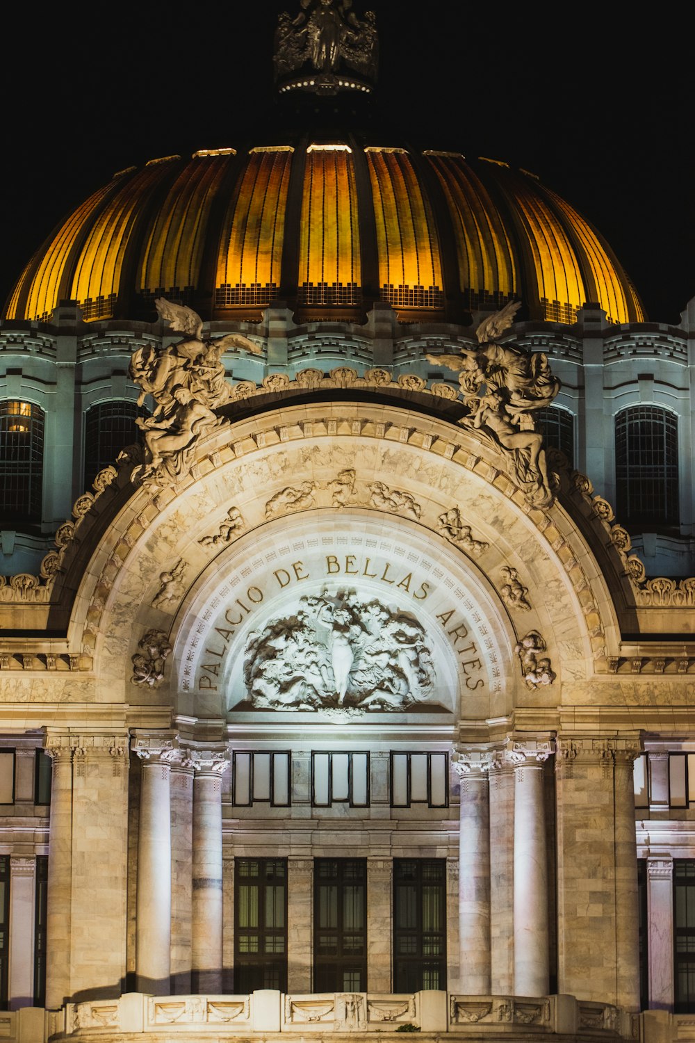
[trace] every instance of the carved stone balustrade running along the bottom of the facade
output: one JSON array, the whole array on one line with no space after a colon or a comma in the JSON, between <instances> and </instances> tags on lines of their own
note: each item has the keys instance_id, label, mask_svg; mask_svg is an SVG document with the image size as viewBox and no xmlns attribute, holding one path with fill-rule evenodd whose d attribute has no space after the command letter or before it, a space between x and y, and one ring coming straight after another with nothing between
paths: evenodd
<instances>
[{"instance_id":1,"label":"carved stone balustrade running along the bottom of the facade","mask_svg":"<svg viewBox=\"0 0 695 1043\"><path fill-rule=\"evenodd\" d=\"M0 1035L11 1043L57 1043L98 1039L119 1043L148 1036L152 1043L234 1036L287 1035L306 1039L323 1034L418 1032L432 1037L518 1037L637 1039L666 1043L690 1039L678 1018L630 1015L610 1003L573 996L467 996L426 990L417 993L290 993L259 990L249 995L149 996L67 1003L58 1012L27 1008L0 1014ZM670 1018L668 1024L664 1018ZM642 1026L640 1021L642 1020ZM688 1019L681 1019L684 1024ZM692 1018L690 1019L692 1021ZM695 1039L695 1036L692 1038Z\"/></svg>"}]
</instances>

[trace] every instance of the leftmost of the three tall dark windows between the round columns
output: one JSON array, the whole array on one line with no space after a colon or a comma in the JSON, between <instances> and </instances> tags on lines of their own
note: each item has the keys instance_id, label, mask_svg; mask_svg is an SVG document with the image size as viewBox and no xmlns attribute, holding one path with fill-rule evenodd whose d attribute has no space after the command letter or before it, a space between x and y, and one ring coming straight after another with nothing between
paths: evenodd
<instances>
[{"instance_id":1,"label":"leftmost of the three tall dark windows between the round columns","mask_svg":"<svg viewBox=\"0 0 695 1043\"><path fill-rule=\"evenodd\" d=\"M288 864L237 858L234 991L288 987Z\"/></svg>"}]
</instances>

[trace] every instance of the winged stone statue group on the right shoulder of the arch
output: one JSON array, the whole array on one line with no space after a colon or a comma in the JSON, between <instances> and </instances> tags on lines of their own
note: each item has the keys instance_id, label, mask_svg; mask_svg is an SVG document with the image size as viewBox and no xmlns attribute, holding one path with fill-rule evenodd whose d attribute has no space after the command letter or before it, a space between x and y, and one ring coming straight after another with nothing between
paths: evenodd
<instances>
[{"instance_id":1,"label":"winged stone statue group on the right shoulder of the arch","mask_svg":"<svg viewBox=\"0 0 695 1043\"><path fill-rule=\"evenodd\" d=\"M510 301L485 319L476 330L477 349L462 348L461 358L428 355L427 359L458 372L464 402L470 409L461 423L479 431L501 448L529 503L548 507L553 494L535 414L550 405L560 391L560 381L541 351L496 343L520 307L519 301Z\"/></svg>"}]
</instances>

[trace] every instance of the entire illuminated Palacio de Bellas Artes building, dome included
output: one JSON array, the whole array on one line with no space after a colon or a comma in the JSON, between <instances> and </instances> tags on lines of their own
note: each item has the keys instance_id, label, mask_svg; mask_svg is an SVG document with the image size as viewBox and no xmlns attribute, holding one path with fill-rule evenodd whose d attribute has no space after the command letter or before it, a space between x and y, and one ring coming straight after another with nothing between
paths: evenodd
<instances>
[{"instance_id":1,"label":"entire illuminated Palacio de Bellas Artes building, dome included","mask_svg":"<svg viewBox=\"0 0 695 1043\"><path fill-rule=\"evenodd\" d=\"M691 1040L694 305L274 47L3 313L0 1037Z\"/></svg>"}]
</instances>

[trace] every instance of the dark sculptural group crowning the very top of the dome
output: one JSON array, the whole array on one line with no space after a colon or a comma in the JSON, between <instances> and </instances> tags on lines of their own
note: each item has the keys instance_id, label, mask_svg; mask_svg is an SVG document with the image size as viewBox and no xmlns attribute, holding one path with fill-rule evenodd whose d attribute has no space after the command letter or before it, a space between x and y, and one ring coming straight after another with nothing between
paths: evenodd
<instances>
[{"instance_id":1,"label":"dark sculptural group crowning the very top of the dome","mask_svg":"<svg viewBox=\"0 0 695 1043\"><path fill-rule=\"evenodd\" d=\"M311 62L326 81L344 62L349 69L376 78L378 40L374 11L364 20L352 10L352 0L301 0L292 18L282 11L275 31L275 76L283 76Z\"/></svg>"}]
</instances>

